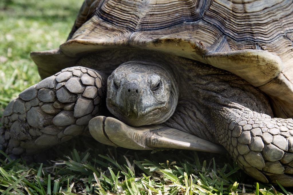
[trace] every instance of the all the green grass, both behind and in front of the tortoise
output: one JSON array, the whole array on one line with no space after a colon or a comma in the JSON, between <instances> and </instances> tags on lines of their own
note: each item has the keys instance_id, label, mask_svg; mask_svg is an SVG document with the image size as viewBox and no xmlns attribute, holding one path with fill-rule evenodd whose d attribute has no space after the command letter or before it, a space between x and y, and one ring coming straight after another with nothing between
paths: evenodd
<instances>
[{"instance_id":1,"label":"all the green grass, both behind and in front of the tortoise","mask_svg":"<svg viewBox=\"0 0 293 195\"><path fill-rule=\"evenodd\" d=\"M29 52L63 43L81 4L0 1L0 117L12 98L40 81ZM39 154L43 163L2 155L2 194L290 194L251 180L229 156L209 153L127 150L76 138Z\"/></svg>"}]
</instances>

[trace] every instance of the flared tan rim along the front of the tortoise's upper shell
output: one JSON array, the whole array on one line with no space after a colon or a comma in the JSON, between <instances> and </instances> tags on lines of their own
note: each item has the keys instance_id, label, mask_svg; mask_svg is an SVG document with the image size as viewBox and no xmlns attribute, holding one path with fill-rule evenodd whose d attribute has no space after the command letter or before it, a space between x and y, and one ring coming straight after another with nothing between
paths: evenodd
<instances>
[{"instance_id":1,"label":"flared tan rim along the front of the tortoise's upper shell","mask_svg":"<svg viewBox=\"0 0 293 195\"><path fill-rule=\"evenodd\" d=\"M84 53L97 50L117 47L137 47L165 52L197 60L232 72L270 95L273 104L277 105L274 107L278 109L275 112L277 117L286 118L293 114L291 111L293 110L293 106L291 104L289 107L284 106L288 102L293 102L293 85L288 79L286 84L280 82L283 77L279 78L279 81L274 82L283 70L283 63L280 57L270 52L254 49L234 52L211 52L197 42L174 37L161 37L149 41L135 42L127 41L127 39L117 41L73 39L60 45L59 50L32 52L31 57L38 65L40 76L45 78L65 67L74 66ZM272 87L272 83L274 83L274 87ZM288 95L284 96L283 93L277 93L276 89L279 88L278 86L283 91L287 91L286 94ZM272 90L272 88L275 90Z\"/></svg>"}]
</instances>

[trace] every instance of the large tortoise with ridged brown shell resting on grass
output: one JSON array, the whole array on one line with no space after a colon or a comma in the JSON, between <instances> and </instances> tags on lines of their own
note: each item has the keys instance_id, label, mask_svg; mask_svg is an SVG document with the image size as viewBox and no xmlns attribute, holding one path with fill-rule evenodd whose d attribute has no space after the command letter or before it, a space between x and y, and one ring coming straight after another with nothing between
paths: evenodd
<instances>
[{"instance_id":1,"label":"large tortoise with ridged brown shell resting on grass","mask_svg":"<svg viewBox=\"0 0 293 195\"><path fill-rule=\"evenodd\" d=\"M292 187L292 10L289 0L85 0L65 43L31 53L43 80L7 105L1 149L17 157L86 135L228 152L251 177Z\"/></svg>"}]
</instances>

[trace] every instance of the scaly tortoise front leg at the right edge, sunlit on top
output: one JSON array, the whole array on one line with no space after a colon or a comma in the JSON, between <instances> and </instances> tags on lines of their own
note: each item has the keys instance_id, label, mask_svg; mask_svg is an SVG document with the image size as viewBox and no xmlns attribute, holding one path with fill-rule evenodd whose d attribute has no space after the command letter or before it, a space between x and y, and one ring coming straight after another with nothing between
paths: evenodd
<instances>
[{"instance_id":1,"label":"scaly tortoise front leg at the right edge, sunlit on top","mask_svg":"<svg viewBox=\"0 0 293 195\"><path fill-rule=\"evenodd\" d=\"M215 137L243 170L264 183L293 186L293 119L228 107L213 118Z\"/></svg>"}]
</instances>

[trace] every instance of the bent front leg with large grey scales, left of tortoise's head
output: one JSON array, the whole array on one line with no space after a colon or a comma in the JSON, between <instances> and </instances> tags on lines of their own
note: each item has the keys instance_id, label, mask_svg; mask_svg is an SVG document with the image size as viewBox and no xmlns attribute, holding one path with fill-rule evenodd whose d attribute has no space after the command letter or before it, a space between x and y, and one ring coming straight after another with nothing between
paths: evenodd
<instances>
[{"instance_id":1,"label":"bent front leg with large grey scales, left of tortoise's head","mask_svg":"<svg viewBox=\"0 0 293 195\"><path fill-rule=\"evenodd\" d=\"M4 110L0 149L25 155L86 134L99 114L105 83L99 72L76 66L27 88Z\"/></svg>"}]
</instances>

